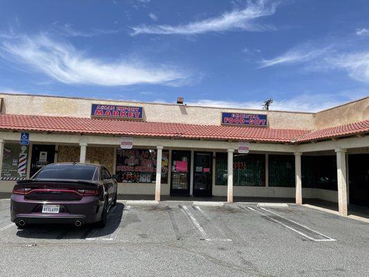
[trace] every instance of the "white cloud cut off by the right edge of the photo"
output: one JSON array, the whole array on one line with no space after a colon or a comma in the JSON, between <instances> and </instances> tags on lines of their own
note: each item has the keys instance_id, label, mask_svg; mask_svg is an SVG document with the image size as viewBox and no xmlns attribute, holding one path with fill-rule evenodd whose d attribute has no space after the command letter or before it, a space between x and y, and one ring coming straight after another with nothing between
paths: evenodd
<instances>
[{"instance_id":1,"label":"white cloud cut off by the right edge of the photo","mask_svg":"<svg viewBox=\"0 0 369 277\"><path fill-rule=\"evenodd\" d=\"M369 52L336 55L327 57L324 62L327 66L347 71L354 80L369 82Z\"/></svg>"}]
</instances>

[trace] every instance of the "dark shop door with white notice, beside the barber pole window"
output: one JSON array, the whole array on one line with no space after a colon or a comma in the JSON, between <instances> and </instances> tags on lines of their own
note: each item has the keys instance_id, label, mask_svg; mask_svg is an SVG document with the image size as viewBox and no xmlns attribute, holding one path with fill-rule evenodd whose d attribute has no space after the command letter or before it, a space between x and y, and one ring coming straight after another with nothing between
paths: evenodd
<instances>
[{"instance_id":1,"label":"dark shop door with white notice, beside the barber pole window","mask_svg":"<svg viewBox=\"0 0 369 277\"><path fill-rule=\"evenodd\" d=\"M30 159L30 177L40 168L53 163L55 158L55 145L34 144Z\"/></svg>"}]
</instances>

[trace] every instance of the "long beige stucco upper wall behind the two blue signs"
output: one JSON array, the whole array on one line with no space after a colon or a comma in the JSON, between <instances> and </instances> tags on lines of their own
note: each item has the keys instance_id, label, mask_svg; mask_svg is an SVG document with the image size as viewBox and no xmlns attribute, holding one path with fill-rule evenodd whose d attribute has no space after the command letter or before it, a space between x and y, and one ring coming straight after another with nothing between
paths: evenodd
<instances>
[{"instance_id":1,"label":"long beige stucco upper wall behind the two blue signs","mask_svg":"<svg viewBox=\"0 0 369 277\"><path fill-rule=\"evenodd\" d=\"M221 112L267 114L269 127L276 129L314 129L314 114L262 111L251 109L227 109L169 105L147 102L105 101L53 96L29 96L0 93L3 98L2 112L6 114L33 114L42 116L74 116L89 118L91 104L128 105L144 108L144 119L150 122L220 125ZM22 107L22 109L19 109Z\"/></svg>"}]
</instances>

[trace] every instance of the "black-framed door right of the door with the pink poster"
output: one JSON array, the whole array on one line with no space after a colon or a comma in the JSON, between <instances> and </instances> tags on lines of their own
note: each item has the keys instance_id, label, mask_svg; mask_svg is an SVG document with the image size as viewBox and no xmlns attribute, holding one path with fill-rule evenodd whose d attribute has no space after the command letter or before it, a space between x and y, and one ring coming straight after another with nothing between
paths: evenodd
<instances>
[{"instance_id":1,"label":"black-framed door right of the door with the pink poster","mask_svg":"<svg viewBox=\"0 0 369 277\"><path fill-rule=\"evenodd\" d=\"M211 196L213 189L213 152L195 152L193 195Z\"/></svg>"}]
</instances>

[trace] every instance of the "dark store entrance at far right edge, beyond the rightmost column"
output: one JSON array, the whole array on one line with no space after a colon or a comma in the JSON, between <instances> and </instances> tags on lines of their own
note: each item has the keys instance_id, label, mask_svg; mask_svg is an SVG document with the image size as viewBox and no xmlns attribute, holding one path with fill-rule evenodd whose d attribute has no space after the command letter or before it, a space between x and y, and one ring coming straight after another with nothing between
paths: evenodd
<instances>
[{"instance_id":1,"label":"dark store entrance at far right edge, beyond the rightmost column","mask_svg":"<svg viewBox=\"0 0 369 277\"><path fill-rule=\"evenodd\" d=\"M369 154L348 155L350 204L369 207Z\"/></svg>"}]
</instances>

